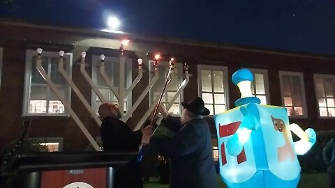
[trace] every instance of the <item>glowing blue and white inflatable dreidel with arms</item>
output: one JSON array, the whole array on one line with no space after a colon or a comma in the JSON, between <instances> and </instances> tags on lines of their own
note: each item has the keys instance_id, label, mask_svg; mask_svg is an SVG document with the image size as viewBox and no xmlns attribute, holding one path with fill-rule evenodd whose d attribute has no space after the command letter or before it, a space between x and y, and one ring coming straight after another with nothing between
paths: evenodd
<instances>
[{"instance_id":1,"label":"glowing blue and white inflatable dreidel with arms","mask_svg":"<svg viewBox=\"0 0 335 188\"><path fill-rule=\"evenodd\" d=\"M297 187L301 171L297 154L313 146L314 130L304 132L290 125L285 107L260 104L251 93L249 70L238 70L232 81L241 98L234 109L214 116L221 178L230 188ZM291 129L300 141L293 142Z\"/></svg>"}]
</instances>

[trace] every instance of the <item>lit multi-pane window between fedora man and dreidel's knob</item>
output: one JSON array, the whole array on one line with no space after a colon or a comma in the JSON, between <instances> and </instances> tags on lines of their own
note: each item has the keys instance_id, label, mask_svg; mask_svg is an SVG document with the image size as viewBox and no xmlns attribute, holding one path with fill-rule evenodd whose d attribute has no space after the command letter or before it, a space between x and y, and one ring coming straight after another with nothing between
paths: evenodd
<instances>
[{"instance_id":1,"label":"lit multi-pane window between fedora man and dreidel's knob","mask_svg":"<svg viewBox=\"0 0 335 188\"><path fill-rule=\"evenodd\" d=\"M210 115L228 108L228 72L226 67L198 65L199 96Z\"/></svg>"}]
</instances>

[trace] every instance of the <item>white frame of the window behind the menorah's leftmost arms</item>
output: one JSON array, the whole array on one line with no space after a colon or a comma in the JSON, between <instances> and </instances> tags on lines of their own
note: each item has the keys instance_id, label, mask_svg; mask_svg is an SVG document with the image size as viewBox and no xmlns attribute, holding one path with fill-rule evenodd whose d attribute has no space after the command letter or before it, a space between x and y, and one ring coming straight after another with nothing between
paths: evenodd
<instances>
[{"instance_id":1,"label":"white frame of the window behind the menorah's leftmost arms","mask_svg":"<svg viewBox=\"0 0 335 188\"><path fill-rule=\"evenodd\" d=\"M24 74L24 100L23 100L23 108L22 108L22 116L56 116L56 117L64 117L70 116L69 113L64 111L64 113L29 113L29 99L30 99L30 86L31 86L31 58L33 56L37 56L36 50L27 49L26 51L26 67L25 67L25 74ZM59 58L59 52L47 52L43 51L42 56L51 57L51 58ZM70 78L72 77L72 65L73 65L73 54L66 53L64 56L69 56L69 70L68 74ZM65 63L65 62L64 62ZM66 101L71 104L71 88L70 85L66 83ZM48 85L48 84L46 84Z\"/></svg>"}]
</instances>

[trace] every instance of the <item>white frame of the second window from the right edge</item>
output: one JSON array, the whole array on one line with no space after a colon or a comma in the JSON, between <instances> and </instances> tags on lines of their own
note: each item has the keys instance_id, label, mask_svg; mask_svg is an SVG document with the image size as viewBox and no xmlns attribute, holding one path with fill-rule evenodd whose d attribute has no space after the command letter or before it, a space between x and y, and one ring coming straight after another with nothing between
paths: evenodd
<instances>
[{"instance_id":1,"label":"white frame of the second window from the right edge","mask_svg":"<svg viewBox=\"0 0 335 188\"><path fill-rule=\"evenodd\" d=\"M289 116L289 118L308 118L307 114L307 104L306 104L306 91L304 84L304 74L302 72L289 72L289 71L279 71L279 80L281 83L281 104L285 107L284 103L284 91L283 91L283 75L297 76L299 77L299 83L301 86L301 104L302 104L302 116Z\"/></svg>"}]
</instances>

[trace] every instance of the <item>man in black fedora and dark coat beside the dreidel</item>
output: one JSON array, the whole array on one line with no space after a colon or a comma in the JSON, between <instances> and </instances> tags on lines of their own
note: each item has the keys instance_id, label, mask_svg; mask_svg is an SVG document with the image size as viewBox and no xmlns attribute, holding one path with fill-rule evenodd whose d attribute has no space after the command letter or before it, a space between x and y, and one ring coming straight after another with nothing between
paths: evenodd
<instances>
[{"instance_id":1,"label":"man in black fedora and dark coat beside the dreidel","mask_svg":"<svg viewBox=\"0 0 335 188\"><path fill-rule=\"evenodd\" d=\"M163 104L158 108L164 117L163 125L174 132L174 136L156 138L145 134L142 143L148 144L147 152L170 157L171 188L215 188L211 134L209 125L202 118L209 115L209 110L200 97L181 104L185 109L181 112L180 123L169 115Z\"/></svg>"}]
</instances>

